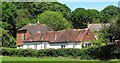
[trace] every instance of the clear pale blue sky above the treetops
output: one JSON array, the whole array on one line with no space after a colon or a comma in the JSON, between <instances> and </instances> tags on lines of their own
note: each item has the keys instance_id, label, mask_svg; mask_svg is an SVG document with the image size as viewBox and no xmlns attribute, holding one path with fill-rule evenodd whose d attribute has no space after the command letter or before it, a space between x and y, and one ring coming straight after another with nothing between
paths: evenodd
<instances>
[{"instance_id":1,"label":"clear pale blue sky above the treetops","mask_svg":"<svg viewBox=\"0 0 120 63\"><path fill-rule=\"evenodd\" d=\"M110 1L110 2L97 2L97 1L60 1L62 4L66 4L72 11L75 10L76 8L85 8L85 9L97 9L98 11L103 10L105 7L108 5L114 5L118 7L118 2L119 1ZM120 3L120 2L119 2ZM120 4L119 4L120 5Z\"/></svg>"}]
</instances>

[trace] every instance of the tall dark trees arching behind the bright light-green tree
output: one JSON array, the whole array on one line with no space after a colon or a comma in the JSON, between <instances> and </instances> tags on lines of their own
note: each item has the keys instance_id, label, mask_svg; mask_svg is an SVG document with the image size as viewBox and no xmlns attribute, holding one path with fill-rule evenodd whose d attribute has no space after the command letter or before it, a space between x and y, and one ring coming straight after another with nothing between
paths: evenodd
<instances>
[{"instance_id":1,"label":"tall dark trees arching behind the bright light-green tree","mask_svg":"<svg viewBox=\"0 0 120 63\"><path fill-rule=\"evenodd\" d=\"M16 2L15 5L17 9L27 9L32 15L31 18L36 18L37 15L47 10L61 12L65 18L68 18L71 12L69 7L59 2Z\"/></svg>"}]
</instances>

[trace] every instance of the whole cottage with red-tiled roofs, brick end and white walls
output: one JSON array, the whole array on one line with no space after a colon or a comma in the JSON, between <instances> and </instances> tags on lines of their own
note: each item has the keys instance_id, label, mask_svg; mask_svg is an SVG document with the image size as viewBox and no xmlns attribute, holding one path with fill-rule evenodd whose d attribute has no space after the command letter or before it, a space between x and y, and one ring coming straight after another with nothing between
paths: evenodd
<instances>
[{"instance_id":1,"label":"whole cottage with red-tiled roofs, brick end and white walls","mask_svg":"<svg viewBox=\"0 0 120 63\"><path fill-rule=\"evenodd\" d=\"M82 45L88 47L92 41L96 40L90 29L53 31L49 27L45 26L46 29L44 29L45 27L41 28L41 26L45 25L31 24L19 29L16 41L17 48L32 48L37 50L49 48L82 48ZM34 31L34 33L31 31Z\"/></svg>"}]
</instances>

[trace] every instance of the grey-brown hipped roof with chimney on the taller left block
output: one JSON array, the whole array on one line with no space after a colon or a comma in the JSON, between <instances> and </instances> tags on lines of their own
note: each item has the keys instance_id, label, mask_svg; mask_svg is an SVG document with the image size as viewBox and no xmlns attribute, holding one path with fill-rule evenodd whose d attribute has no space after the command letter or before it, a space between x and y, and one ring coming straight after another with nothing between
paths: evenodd
<instances>
[{"instance_id":1,"label":"grey-brown hipped roof with chimney on the taller left block","mask_svg":"<svg viewBox=\"0 0 120 63\"><path fill-rule=\"evenodd\" d=\"M23 28L19 29L20 30L28 30L31 34L36 34L36 33L41 33L41 32L48 32L48 31L53 31L53 29L49 28L48 26L44 24L28 24L24 26Z\"/></svg>"}]
</instances>

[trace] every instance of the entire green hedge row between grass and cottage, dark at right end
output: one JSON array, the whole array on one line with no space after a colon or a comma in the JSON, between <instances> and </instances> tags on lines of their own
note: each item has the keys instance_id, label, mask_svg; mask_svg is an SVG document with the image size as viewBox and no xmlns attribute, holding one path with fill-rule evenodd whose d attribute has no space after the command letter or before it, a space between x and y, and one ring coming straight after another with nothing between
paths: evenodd
<instances>
[{"instance_id":1,"label":"entire green hedge row between grass and cottage, dark at right end","mask_svg":"<svg viewBox=\"0 0 120 63\"><path fill-rule=\"evenodd\" d=\"M120 49L120 48L118 48ZM92 46L83 49L12 49L2 48L2 55L4 56L24 56L24 57L74 57L80 59L112 59L120 57L120 50L117 51L113 46Z\"/></svg>"}]
</instances>

